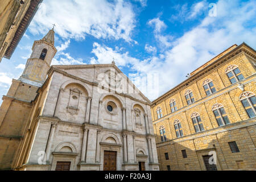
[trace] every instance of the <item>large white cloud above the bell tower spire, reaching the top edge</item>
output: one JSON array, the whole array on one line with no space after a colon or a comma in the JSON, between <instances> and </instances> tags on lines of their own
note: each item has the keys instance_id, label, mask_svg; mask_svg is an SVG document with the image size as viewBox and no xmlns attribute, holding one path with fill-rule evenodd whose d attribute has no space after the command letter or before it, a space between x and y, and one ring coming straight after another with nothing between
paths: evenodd
<instances>
[{"instance_id":1,"label":"large white cloud above the bell tower spire, reaching the top edge","mask_svg":"<svg viewBox=\"0 0 256 182\"><path fill-rule=\"evenodd\" d=\"M46 33L55 23L55 31L63 38L124 39L131 42L135 27L132 5L123 0L44 0L32 20L29 30Z\"/></svg>"}]
</instances>

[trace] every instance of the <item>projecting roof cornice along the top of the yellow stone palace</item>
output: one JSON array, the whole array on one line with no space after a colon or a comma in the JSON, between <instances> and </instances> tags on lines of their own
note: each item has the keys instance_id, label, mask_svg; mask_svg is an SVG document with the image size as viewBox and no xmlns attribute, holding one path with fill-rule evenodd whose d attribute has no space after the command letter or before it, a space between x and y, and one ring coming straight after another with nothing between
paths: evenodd
<instances>
[{"instance_id":1,"label":"projecting roof cornice along the top of the yellow stone palace","mask_svg":"<svg viewBox=\"0 0 256 182\"><path fill-rule=\"evenodd\" d=\"M226 63L233 57L240 55L240 53L242 53L242 52L246 53L246 55L249 55L253 59L256 59L255 50L253 48L251 48L250 46L248 46L246 43L242 43L242 44L240 44L240 46L232 49L232 51L226 53L225 55L223 55L222 57L220 57L213 63L207 65L207 67L205 67L204 69L201 69L199 72L196 72L195 75L192 75L187 80L181 82L179 85L175 86L174 88L172 88L168 92L164 93L162 96L160 96L156 100L152 101L151 106L155 106L155 105L159 104L160 102L162 102L163 100L165 100L166 98L173 96L174 94L179 92L179 90L189 86L192 82L199 80L205 74L209 73L210 71L213 71L217 67L221 67L221 65L223 65L224 63Z\"/></svg>"}]
</instances>

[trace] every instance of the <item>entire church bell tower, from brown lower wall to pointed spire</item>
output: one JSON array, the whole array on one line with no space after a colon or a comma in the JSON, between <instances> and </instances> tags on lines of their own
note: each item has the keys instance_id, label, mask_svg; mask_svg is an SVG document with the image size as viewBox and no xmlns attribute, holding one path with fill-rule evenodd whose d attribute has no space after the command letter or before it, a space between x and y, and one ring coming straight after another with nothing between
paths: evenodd
<instances>
[{"instance_id":1,"label":"entire church bell tower, from brown lower wall to pointed spire","mask_svg":"<svg viewBox=\"0 0 256 182\"><path fill-rule=\"evenodd\" d=\"M36 40L30 59L27 60L22 76L13 79L6 96L2 97L0 107L0 169L11 169L14 156L26 131L33 101L47 78L57 49L54 47L55 32L49 30L41 40Z\"/></svg>"}]
</instances>

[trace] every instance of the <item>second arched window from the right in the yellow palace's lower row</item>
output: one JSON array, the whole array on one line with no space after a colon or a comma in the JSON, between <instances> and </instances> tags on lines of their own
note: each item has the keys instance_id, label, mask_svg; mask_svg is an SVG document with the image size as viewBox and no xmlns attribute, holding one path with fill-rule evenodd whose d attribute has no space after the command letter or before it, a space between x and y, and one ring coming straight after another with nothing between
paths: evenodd
<instances>
[{"instance_id":1,"label":"second arched window from the right in the yellow palace's lower row","mask_svg":"<svg viewBox=\"0 0 256 182\"><path fill-rule=\"evenodd\" d=\"M218 126L228 125L230 123L228 114L226 114L222 104L214 104L212 106L212 111L215 115Z\"/></svg>"}]
</instances>

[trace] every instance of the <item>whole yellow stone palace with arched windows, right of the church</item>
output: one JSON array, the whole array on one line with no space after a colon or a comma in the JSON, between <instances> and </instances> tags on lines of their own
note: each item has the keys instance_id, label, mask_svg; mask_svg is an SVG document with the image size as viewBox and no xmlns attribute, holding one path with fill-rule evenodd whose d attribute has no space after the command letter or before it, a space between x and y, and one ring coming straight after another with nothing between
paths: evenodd
<instances>
[{"instance_id":1,"label":"whole yellow stone palace with arched windows, right of the church","mask_svg":"<svg viewBox=\"0 0 256 182\"><path fill-rule=\"evenodd\" d=\"M152 102L160 170L256 169L255 58L234 45Z\"/></svg>"}]
</instances>

